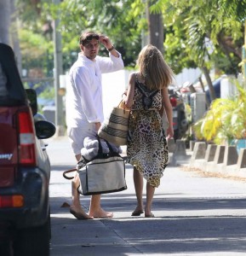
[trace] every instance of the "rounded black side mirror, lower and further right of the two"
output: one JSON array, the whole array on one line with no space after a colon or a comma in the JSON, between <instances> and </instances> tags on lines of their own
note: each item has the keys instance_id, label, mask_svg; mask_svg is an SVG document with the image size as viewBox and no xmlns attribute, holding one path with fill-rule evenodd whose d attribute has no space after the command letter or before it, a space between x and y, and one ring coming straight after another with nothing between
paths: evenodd
<instances>
[{"instance_id":1,"label":"rounded black side mirror, lower and further right of the two","mask_svg":"<svg viewBox=\"0 0 246 256\"><path fill-rule=\"evenodd\" d=\"M47 139L54 136L55 126L49 121L38 120L34 125L38 139Z\"/></svg>"}]
</instances>

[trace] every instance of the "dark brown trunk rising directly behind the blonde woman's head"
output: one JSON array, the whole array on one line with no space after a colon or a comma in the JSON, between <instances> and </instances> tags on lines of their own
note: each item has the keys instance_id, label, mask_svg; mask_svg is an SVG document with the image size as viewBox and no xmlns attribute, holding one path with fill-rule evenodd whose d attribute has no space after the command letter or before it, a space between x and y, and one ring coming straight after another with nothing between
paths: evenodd
<instances>
[{"instance_id":1,"label":"dark brown trunk rising directly behind the blonde woman's head","mask_svg":"<svg viewBox=\"0 0 246 256\"><path fill-rule=\"evenodd\" d=\"M152 1L148 1L147 9L147 20L148 20L148 32L149 32L149 42L157 47L162 53L163 49L163 15L150 13L149 7Z\"/></svg>"}]
</instances>

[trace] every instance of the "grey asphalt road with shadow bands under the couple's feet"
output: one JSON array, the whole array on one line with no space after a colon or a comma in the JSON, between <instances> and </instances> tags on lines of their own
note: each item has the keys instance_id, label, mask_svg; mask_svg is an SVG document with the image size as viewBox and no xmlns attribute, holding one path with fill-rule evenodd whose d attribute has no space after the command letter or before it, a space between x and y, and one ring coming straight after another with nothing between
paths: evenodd
<instances>
[{"instance_id":1,"label":"grey asphalt road with shadow bands under the couple's feet","mask_svg":"<svg viewBox=\"0 0 246 256\"><path fill-rule=\"evenodd\" d=\"M128 189L102 195L114 218L77 220L69 213L71 181L62 172L76 165L66 137L49 140L50 255L246 255L246 182L207 177L169 166L156 190L156 218L131 217L135 207L132 167ZM86 211L89 196L81 196Z\"/></svg>"}]
</instances>

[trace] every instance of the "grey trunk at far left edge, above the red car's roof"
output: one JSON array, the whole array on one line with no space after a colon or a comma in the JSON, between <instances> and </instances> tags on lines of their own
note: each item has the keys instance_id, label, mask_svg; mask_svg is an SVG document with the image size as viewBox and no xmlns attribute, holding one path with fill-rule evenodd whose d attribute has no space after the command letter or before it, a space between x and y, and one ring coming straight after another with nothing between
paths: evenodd
<instances>
[{"instance_id":1,"label":"grey trunk at far left edge, above the red car's roof","mask_svg":"<svg viewBox=\"0 0 246 256\"><path fill-rule=\"evenodd\" d=\"M10 2L0 0L0 42L9 44Z\"/></svg>"}]
</instances>

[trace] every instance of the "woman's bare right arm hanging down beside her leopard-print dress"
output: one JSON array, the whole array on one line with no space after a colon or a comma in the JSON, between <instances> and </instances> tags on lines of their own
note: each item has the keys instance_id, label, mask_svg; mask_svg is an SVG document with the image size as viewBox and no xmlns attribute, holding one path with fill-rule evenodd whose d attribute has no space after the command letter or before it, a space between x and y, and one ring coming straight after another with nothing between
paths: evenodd
<instances>
[{"instance_id":1,"label":"woman's bare right arm hanging down beside her leopard-print dress","mask_svg":"<svg viewBox=\"0 0 246 256\"><path fill-rule=\"evenodd\" d=\"M166 113L166 117L168 119L168 129L166 131L167 138L174 137L174 127L173 127L173 107L169 100L169 90L168 87L164 87L162 90L163 93L163 107Z\"/></svg>"}]
</instances>

